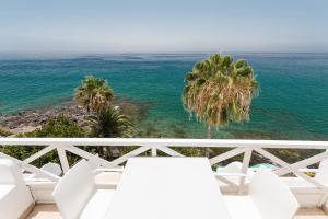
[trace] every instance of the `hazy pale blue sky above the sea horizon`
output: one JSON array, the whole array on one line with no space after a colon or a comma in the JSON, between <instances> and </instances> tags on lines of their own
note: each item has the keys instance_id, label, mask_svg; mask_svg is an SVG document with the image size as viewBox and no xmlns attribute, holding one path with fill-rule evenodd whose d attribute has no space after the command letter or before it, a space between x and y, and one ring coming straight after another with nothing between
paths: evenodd
<instances>
[{"instance_id":1,"label":"hazy pale blue sky above the sea horizon","mask_svg":"<svg viewBox=\"0 0 328 219\"><path fill-rule=\"evenodd\" d=\"M328 0L0 0L0 53L328 51Z\"/></svg>"}]
</instances>

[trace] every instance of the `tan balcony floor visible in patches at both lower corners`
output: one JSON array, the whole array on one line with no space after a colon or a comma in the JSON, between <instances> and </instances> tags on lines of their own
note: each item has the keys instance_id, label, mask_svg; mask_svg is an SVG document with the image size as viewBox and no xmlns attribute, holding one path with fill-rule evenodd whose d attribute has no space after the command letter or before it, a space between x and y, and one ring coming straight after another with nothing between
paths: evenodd
<instances>
[{"instance_id":1,"label":"tan balcony floor visible in patches at both lower corners","mask_svg":"<svg viewBox=\"0 0 328 219\"><path fill-rule=\"evenodd\" d=\"M26 219L60 219L55 205L36 205ZM328 219L321 209L301 208L294 219Z\"/></svg>"}]
</instances>

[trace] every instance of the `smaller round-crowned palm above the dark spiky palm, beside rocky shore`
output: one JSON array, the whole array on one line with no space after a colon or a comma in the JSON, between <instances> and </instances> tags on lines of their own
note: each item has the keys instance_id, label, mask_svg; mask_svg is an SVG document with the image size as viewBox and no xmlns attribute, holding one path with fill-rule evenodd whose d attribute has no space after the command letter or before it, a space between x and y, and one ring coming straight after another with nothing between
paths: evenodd
<instances>
[{"instance_id":1,"label":"smaller round-crowned palm above the dark spiky palm, beside rocky shore","mask_svg":"<svg viewBox=\"0 0 328 219\"><path fill-rule=\"evenodd\" d=\"M86 76L75 89L74 100L90 112L99 112L114 101L114 93L104 79Z\"/></svg>"}]
</instances>

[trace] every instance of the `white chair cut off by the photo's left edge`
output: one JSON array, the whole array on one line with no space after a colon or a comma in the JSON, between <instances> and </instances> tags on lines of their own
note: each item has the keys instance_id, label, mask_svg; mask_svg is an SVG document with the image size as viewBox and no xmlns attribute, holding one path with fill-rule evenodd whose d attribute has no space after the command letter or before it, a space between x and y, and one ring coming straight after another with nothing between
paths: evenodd
<instances>
[{"instance_id":1,"label":"white chair cut off by the photo's left edge","mask_svg":"<svg viewBox=\"0 0 328 219\"><path fill-rule=\"evenodd\" d=\"M11 160L0 159L0 219L17 219L34 206L23 174Z\"/></svg>"}]
</instances>

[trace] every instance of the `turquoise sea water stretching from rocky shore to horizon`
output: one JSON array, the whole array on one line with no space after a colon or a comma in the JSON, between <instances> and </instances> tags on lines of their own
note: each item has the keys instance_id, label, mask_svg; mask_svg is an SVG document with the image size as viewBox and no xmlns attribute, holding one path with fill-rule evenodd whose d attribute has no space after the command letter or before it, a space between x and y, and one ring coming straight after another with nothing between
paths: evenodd
<instances>
[{"instance_id":1,"label":"turquoise sea water stretching from rocky shore to horizon","mask_svg":"<svg viewBox=\"0 0 328 219\"><path fill-rule=\"evenodd\" d=\"M328 139L328 54L234 54L260 82L250 122L214 131L214 138ZM55 105L72 97L86 74L106 78L119 97L154 102L145 120L174 137L203 138L204 125L181 106L184 76L206 54L130 54L62 59L0 57L0 112Z\"/></svg>"}]
</instances>

